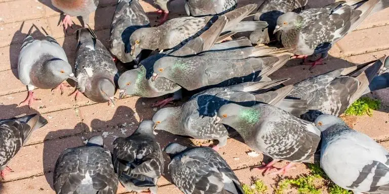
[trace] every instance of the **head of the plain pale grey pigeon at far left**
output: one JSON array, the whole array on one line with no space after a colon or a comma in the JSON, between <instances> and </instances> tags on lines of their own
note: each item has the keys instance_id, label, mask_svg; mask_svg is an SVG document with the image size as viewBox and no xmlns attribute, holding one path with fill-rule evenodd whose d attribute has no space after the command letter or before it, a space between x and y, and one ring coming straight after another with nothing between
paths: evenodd
<instances>
[{"instance_id":1,"label":"head of the plain pale grey pigeon at far left","mask_svg":"<svg viewBox=\"0 0 389 194\"><path fill-rule=\"evenodd\" d=\"M58 80L72 79L75 82L77 79L74 76L74 73L71 70L71 66L68 62L63 61L62 59L54 58L46 62L45 67L46 71L50 72Z\"/></svg>"}]
</instances>

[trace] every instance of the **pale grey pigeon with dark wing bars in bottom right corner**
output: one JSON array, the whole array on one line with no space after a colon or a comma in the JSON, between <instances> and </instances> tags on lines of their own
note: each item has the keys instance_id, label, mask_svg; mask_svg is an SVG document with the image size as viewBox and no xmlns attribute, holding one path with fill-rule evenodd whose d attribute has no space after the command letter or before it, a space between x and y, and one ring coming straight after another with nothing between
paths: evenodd
<instances>
[{"instance_id":1,"label":"pale grey pigeon with dark wing bars in bottom right corner","mask_svg":"<svg viewBox=\"0 0 389 194\"><path fill-rule=\"evenodd\" d=\"M335 184L358 194L388 193L385 148L336 116L321 115L315 124L322 131L320 166Z\"/></svg>"}]
</instances>

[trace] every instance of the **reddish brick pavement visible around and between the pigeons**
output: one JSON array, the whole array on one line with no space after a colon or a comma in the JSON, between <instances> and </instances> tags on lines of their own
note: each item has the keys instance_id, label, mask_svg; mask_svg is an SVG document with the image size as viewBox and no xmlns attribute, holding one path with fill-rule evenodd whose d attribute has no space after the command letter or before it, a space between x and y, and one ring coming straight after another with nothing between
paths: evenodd
<instances>
[{"instance_id":1,"label":"reddish brick pavement visible around and between the pigeons","mask_svg":"<svg viewBox=\"0 0 389 194\"><path fill-rule=\"evenodd\" d=\"M96 30L98 38L109 45L109 28L115 9L115 0L101 0L96 13L91 14L91 27ZM151 1L140 1L146 12L155 11ZM171 5L170 17L184 16L183 1L174 1ZM262 1L240 0L239 6ZM312 1L314 2L314 1ZM330 1L316 1L310 7L323 6ZM157 23L157 16L150 14L150 21ZM74 19L74 18L73 18ZM15 171L8 173L6 180L0 185L0 193L54 193L52 170L58 155L66 148L80 146L83 139L95 134L104 134L105 144L112 149L111 142L116 136L130 135L141 119L150 119L155 110L149 105L154 99L127 98L119 100L115 108L106 104L96 104L84 96L75 102L70 97L50 90L36 89L41 103L17 108L17 104L25 99L26 87L17 78L17 57L26 32L32 23L43 26L63 45L69 62L74 63L76 48L74 30L65 33L57 27L59 13L51 6L50 0L0 0L0 119L23 113L39 112L48 119L49 124L34 131L26 146L12 160L9 166ZM74 19L77 25L79 22ZM356 31L340 40L331 50L326 65L318 66L313 71L308 66L296 65L291 61L277 71L272 77L291 77L289 83L315 76L340 67L378 59L389 52L389 9L370 16ZM72 89L65 91L70 93ZM374 95L382 100L383 108L374 111L373 117L350 117L347 121L357 130L369 134L389 149L389 91L381 90ZM374 124L372 124L374 123ZM188 139L160 133L158 140L162 146L168 142L188 143ZM252 177L262 179L271 188L275 184L275 176L263 177L260 172L250 171L259 164L262 157L250 158L246 154L250 149L235 139L228 139L225 148L219 153L235 170L240 180L249 183ZM165 156L166 157L166 156ZM166 158L168 161L168 159ZM280 164L279 164L280 165ZM280 165L281 166L281 165ZM303 164L291 170L290 175L306 173ZM165 178L166 177L166 178ZM169 175L161 178L159 193L179 193L169 181ZM126 193L121 187L118 193Z\"/></svg>"}]
</instances>

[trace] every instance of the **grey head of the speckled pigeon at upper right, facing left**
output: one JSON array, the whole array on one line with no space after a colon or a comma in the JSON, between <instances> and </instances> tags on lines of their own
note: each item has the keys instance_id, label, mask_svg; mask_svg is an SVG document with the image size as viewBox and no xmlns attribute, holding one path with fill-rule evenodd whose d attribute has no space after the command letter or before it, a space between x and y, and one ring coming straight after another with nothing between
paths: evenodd
<instances>
[{"instance_id":1,"label":"grey head of the speckled pigeon at upper right, facing left","mask_svg":"<svg viewBox=\"0 0 389 194\"><path fill-rule=\"evenodd\" d=\"M303 23L303 17L294 13L288 12L277 19L277 26L273 33L278 31L289 31L300 29Z\"/></svg>"}]
</instances>

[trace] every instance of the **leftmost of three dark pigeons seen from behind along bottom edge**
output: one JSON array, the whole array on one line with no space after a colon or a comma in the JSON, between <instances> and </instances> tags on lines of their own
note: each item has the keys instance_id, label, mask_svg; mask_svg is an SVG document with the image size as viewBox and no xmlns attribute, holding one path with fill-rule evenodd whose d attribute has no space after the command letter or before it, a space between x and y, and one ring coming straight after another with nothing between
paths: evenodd
<instances>
[{"instance_id":1,"label":"leftmost of three dark pigeons seen from behind along bottom edge","mask_svg":"<svg viewBox=\"0 0 389 194\"><path fill-rule=\"evenodd\" d=\"M103 148L103 137L93 136L86 146L69 148L55 164L53 186L57 194L115 194L118 176L111 153Z\"/></svg>"}]
</instances>

